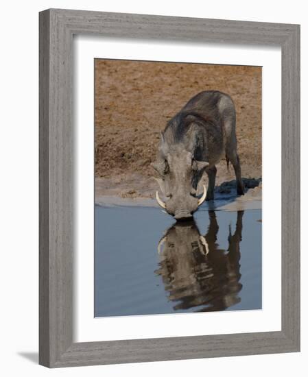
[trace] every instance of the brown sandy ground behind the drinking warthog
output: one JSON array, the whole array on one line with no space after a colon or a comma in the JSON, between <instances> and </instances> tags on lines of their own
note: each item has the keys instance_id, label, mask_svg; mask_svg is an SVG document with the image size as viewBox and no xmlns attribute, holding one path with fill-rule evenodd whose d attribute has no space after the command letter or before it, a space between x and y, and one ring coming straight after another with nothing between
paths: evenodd
<instances>
[{"instance_id":1,"label":"brown sandy ground behind the drinking warthog","mask_svg":"<svg viewBox=\"0 0 308 377\"><path fill-rule=\"evenodd\" d=\"M235 101L243 177L261 178L261 67L95 60L96 202L154 197L158 185L150 162L159 132L193 95L212 89ZM222 160L217 189L234 178ZM261 186L251 190L261 198Z\"/></svg>"}]
</instances>

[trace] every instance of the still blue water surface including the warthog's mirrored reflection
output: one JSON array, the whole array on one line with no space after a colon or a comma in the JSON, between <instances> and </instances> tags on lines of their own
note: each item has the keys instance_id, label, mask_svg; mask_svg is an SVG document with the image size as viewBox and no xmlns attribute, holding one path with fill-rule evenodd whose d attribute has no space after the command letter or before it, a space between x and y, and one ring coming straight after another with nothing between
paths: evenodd
<instances>
[{"instance_id":1,"label":"still blue water surface including the warthog's mirrored reflection","mask_svg":"<svg viewBox=\"0 0 308 377\"><path fill-rule=\"evenodd\" d=\"M95 206L95 317L260 309L261 210Z\"/></svg>"}]
</instances>

